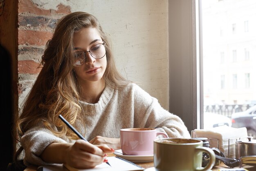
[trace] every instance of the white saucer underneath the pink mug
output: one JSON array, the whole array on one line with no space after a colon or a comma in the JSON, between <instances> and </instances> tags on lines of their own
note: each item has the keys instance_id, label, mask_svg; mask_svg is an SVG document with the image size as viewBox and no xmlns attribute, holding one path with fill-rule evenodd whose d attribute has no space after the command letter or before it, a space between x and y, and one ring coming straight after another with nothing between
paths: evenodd
<instances>
[{"instance_id":1,"label":"white saucer underneath the pink mug","mask_svg":"<svg viewBox=\"0 0 256 171\"><path fill-rule=\"evenodd\" d=\"M154 160L154 155L124 155L122 154L122 150L116 150L114 154L119 157L123 158L125 160L128 160L130 162L151 162Z\"/></svg>"}]
</instances>

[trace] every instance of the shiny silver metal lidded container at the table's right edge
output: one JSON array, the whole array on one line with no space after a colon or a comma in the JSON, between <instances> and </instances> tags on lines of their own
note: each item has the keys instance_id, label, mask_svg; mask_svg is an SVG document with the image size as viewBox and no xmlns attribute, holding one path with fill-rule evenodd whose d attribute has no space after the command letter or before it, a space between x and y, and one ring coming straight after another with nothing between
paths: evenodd
<instances>
[{"instance_id":1,"label":"shiny silver metal lidded container at the table's right edge","mask_svg":"<svg viewBox=\"0 0 256 171\"><path fill-rule=\"evenodd\" d=\"M247 137L247 139L236 141L236 159L256 155L256 140L252 140L252 137Z\"/></svg>"}]
</instances>

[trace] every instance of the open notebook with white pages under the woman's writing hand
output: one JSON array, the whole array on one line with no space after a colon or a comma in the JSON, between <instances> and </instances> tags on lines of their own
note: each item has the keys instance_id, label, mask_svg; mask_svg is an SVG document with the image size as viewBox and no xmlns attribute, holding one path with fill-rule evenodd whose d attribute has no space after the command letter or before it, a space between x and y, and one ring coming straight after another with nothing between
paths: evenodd
<instances>
[{"instance_id":1,"label":"open notebook with white pages under the woman's writing hand","mask_svg":"<svg viewBox=\"0 0 256 171\"><path fill-rule=\"evenodd\" d=\"M108 157L108 162L111 167L106 163L101 163L92 169L76 169L68 165L63 166L40 166L38 171L143 171L144 168L124 160L119 157Z\"/></svg>"}]
</instances>

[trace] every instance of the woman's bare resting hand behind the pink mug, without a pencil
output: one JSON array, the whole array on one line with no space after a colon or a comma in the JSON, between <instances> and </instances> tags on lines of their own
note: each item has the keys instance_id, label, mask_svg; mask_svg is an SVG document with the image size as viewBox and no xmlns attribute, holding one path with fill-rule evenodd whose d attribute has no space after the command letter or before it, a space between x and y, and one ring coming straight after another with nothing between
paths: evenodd
<instances>
[{"instance_id":1,"label":"woman's bare resting hand behind the pink mug, without a pencil","mask_svg":"<svg viewBox=\"0 0 256 171\"><path fill-rule=\"evenodd\" d=\"M107 138L107 137L96 136L89 142L94 145L106 144L108 145L108 147L114 150L121 149L120 138Z\"/></svg>"}]
</instances>

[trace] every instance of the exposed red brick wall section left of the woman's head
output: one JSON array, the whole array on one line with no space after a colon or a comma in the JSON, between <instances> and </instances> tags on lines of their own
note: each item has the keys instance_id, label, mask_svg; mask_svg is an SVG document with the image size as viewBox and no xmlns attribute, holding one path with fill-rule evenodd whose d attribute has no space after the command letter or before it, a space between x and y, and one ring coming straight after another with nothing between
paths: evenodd
<instances>
[{"instance_id":1,"label":"exposed red brick wall section left of the woman's head","mask_svg":"<svg viewBox=\"0 0 256 171\"><path fill-rule=\"evenodd\" d=\"M55 10L56 9L56 10ZM18 2L18 95L19 107L30 91L38 73L46 42L52 38L56 21L71 13L70 7L58 4L43 9L32 0Z\"/></svg>"}]
</instances>

